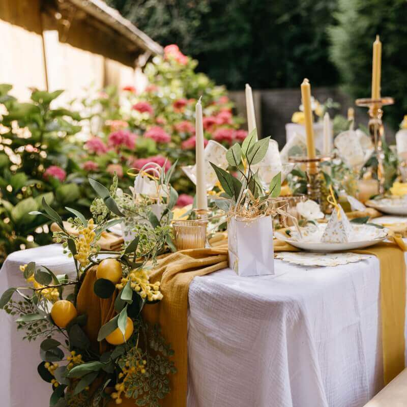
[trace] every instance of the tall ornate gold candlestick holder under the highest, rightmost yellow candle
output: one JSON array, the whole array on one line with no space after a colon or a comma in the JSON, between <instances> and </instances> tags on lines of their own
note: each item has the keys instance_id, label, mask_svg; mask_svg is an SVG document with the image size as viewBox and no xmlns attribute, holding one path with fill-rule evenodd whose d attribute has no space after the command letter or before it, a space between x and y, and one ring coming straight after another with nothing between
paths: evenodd
<instances>
[{"instance_id":1,"label":"tall ornate gold candlestick holder under the highest, rightmost yellow candle","mask_svg":"<svg viewBox=\"0 0 407 407\"><path fill-rule=\"evenodd\" d=\"M382 122L383 106L394 104L394 99L384 97L379 99L356 99L356 105L368 107L369 114L369 133L374 146L374 155L377 159L376 178L379 181L379 193L385 193L385 171L384 171L384 152L383 152L383 137L384 126Z\"/></svg>"}]
</instances>

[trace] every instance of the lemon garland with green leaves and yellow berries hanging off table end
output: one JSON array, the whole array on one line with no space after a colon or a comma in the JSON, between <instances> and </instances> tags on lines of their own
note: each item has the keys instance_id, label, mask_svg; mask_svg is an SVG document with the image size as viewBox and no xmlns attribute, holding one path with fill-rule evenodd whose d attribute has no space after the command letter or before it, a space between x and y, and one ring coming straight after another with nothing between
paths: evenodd
<instances>
[{"instance_id":1,"label":"lemon garland with green leaves and yellow berries hanging off table end","mask_svg":"<svg viewBox=\"0 0 407 407\"><path fill-rule=\"evenodd\" d=\"M93 215L100 221L99 224L95 224L93 218L86 220L74 211L75 218L69 221L77 229L75 235L64 228L62 219L45 199L42 202L45 209L43 215L60 228L60 231L54 232L55 239L63 244L65 252L74 259L76 278L56 276L46 267L31 262L20 267L27 286L6 290L0 299L0 308L18 310L19 324L32 324L33 321L50 324L52 329L45 331L46 337L40 344L43 361L38 366L38 372L52 386L52 403L63 398L65 405L85 407L104 405L103 399L112 399L120 404L124 397L134 397L136 403L138 395L146 396L148 389L147 399L150 401L143 405L153 407L170 391L165 384L168 383L166 376L176 369L168 360L168 356L172 355L170 347L160 337L157 327L148 327L143 323L140 311L145 303L163 298L160 282L150 283L151 271L146 264L149 260L154 262L157 253L162 252L170 236L170 228L167 225L155 225L144 237L139 235L123 247L121 252L101 251L98 238L113 222L108 220L106 213L117 216L121 216L121 213L105 187L96 181L91 184L100 195L97 199L108 202L108 211L101 207L99 201L93 205ZM140 230L142 234L144 229ZM144 241L141 243L142 239ZM147 251L143 253L142 250ZM102 253L111 257L100 261L98 256ZM141 263L135 263L136 259L138 262L141 259ZM95 294L109 298L113 292L117 292L117 297L121 299L119 303L115 302L118 314L99 331L99 341L106 340L114 345L111 352L103 355L92 351L90 340L82 328L86 323L86 315L78 315L75 307L79 287L91 267L97 268ZM64 289L67 286L74 286L74 292L66 296ZM13 307L11 298L14 293L21 295L29 306ZM62 343L54 339L54 332L59 332L59 337L62 334L66 340ZM36 332L35 337L40 335L41 332ZM139 345L140 335L144 338L144 348ZM92 385L96 381L102 384L95 385L95 390Z\"/></svg>"}]
</instances>

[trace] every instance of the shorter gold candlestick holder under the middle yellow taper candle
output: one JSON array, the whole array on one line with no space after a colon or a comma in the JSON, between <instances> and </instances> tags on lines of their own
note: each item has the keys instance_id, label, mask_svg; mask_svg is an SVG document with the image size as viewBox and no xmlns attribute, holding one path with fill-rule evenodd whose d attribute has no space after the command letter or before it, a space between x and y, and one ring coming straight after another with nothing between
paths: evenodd
<instances>
[{"instance_id":1,"label":"shorter gold candlestick holder under the middle yellow taper candle","mask_svg":"<svg viewBox=\"0 0 407 407\"><path fill-rule=\"evenodd\" d=\"M289 162L306 165L308 198L318 202L322 212L326 214L331 213L332 208L327 200L329 191L319 164L331 159L332 157L330 156L317 156L315 158L295 156L288 158Z\"/></svg>"}]
</instances>

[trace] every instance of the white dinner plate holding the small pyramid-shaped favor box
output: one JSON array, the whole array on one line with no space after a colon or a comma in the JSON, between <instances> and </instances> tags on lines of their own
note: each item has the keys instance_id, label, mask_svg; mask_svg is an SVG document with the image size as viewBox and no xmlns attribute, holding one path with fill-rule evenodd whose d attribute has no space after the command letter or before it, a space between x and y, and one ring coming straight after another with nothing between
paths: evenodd
<instances>
[{"instance_id":1,"label":"white dinner plate holding the small pyramid-shaped favor box","mask_svg":"<svg viewBox=\"0 0 407 407\"><path fill-rule=\"evenodd\" d=\"M309 234L307 238L301 238L296 231L295 226L289 228L292 235L287 236L285 232L276 231L274 236L290 245L302 250L326 253L334 251L348 251L362 249L364 247L373 246L385 240L388 236L387 229L379 229L370 225L352 224L353 232L351 241L345 243L327 243L321 242L322 233L326 227L326 223L318 224L318 230L315 234Z\"/></svg>"}]
</instances>

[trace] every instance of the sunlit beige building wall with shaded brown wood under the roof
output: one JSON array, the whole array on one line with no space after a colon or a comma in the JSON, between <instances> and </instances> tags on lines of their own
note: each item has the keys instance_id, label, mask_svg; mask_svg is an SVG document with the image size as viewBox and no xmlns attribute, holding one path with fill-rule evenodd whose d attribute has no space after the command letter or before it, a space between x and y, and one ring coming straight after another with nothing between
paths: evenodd
<instances>
[{"instance_id":1,"label":"sunlit beige building wall with shaded brown wood under the roof","mask_svg":"<svg viewBox=\"0 0 407 407\"><path fill-rule=\"evenodd\" d=\"M114 42L89 17L71 16L69 28L40 11L41 0L0 1L2 56L0 83L11 83L25 100L28 88L67 90L74 97L84 88L134 85L134 56Z\"/></svg>"}]
</instances>

